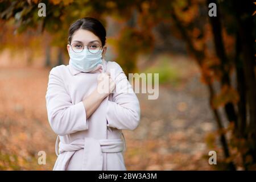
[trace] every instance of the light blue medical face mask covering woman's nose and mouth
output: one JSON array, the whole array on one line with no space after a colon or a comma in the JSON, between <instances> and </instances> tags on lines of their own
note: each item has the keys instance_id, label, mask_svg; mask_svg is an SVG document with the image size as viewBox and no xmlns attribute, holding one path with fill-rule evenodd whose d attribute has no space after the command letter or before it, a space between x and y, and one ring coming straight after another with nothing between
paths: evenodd
<instances>
[{"instance_id":1,"label":"light blue medical face mask covering woman's nose and mouth","mask_svg":"<svg viewBox=\"0 0 256 182\"><path fill-rule=\"evenodd\" d=\"M70 63L81 72L90 72L96 68L98 64L102 64L102 50L103 49L97 53L90 53L87 48L84 48L82 52L76 53L69 47Z\"/></svg>"}]
</instances>

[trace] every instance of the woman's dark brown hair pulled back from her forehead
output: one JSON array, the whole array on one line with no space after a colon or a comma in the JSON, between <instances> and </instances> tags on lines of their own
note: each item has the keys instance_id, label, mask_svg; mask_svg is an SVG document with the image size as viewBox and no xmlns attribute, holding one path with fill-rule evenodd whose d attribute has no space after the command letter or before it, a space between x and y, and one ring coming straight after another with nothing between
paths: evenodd
<instances>
[{"instance_id":1,"label":"woman's dark brown hair pulled back from her forehead","mask_svg":"<svg viewBox=\"0 0 256 182\"><path fill-rule=\"evenodd\" d=\"M71 44L72 36L75 31L79 30L80 28L84 30L88 30L93 32L94 35L98 36L101 40L102 47L105 46L106 43L106 30L101 22L95 18L85 17L79 20L76 20L68 30L68 43Z\"/></svg>"}]
</instances>

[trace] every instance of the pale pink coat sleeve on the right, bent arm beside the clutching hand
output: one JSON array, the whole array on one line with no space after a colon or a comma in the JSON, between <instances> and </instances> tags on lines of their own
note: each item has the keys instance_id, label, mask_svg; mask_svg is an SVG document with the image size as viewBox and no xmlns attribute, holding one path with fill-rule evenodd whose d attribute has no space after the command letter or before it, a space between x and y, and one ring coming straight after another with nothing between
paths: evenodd
<instances>
[{"instance_id":1,"label":"pale pink coat sleeve on the right, bent arm beside the clutching hand","mask_svg":"<svg viewBox=\"0 0 256 182\"><path fill-rule=\"evenodd\" d=\"M115 76L113 101L108 101L107 126L120 130L134 130L141 119L139 101L122 68L115 64L118 74Z\"/></svg>"}]
</instances>

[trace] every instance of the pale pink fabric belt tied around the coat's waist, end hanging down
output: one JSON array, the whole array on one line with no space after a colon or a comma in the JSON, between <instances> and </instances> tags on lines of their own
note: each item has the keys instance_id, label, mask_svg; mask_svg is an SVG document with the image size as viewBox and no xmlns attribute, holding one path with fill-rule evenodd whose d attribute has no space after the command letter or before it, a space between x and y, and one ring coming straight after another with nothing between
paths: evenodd
<instances>
[{"instance_id":1,"label":"pale pink fabric belt tied around the coat's waist, end hanging down","mask_svg":"<svg viewBox=\"0 0 256 182\"><path fill-rule=\"evenodd\" d=\"M85 137L84 139L77 139L71 143L59 142L59 135L56 139L55 152L59 156L62 152L71 152L75 154L75 151L84 148L84 154L82 159L82 170L85 171L102 171L103 168L103 152L123 152L126 150L125 137L118 139L94 139ZM59 146L59 148L58 148ZM70 158L73 155L69 155ZM67 167L65 165L65 167ZM63 168L65 170L65 168Z\"/></svg>"}]
</instances>

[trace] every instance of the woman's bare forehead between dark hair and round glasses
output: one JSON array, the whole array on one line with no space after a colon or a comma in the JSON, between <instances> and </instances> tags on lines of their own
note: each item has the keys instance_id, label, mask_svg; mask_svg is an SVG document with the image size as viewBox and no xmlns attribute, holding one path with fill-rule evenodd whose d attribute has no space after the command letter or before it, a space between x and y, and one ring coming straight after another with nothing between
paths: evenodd
<instances>
[{"instance_id":1,"label":"woman's bare forehead between dark hair and round glasses","mask_svg":"<svg viewBox=\"0 0 256 182\"><path fill-rule=\"evenodd\" d=\"M100 39L88 30L79 29L72 36L72 42L82 42L84 44L95 42L100 43Z\"/></svg>"}]
</instances>

